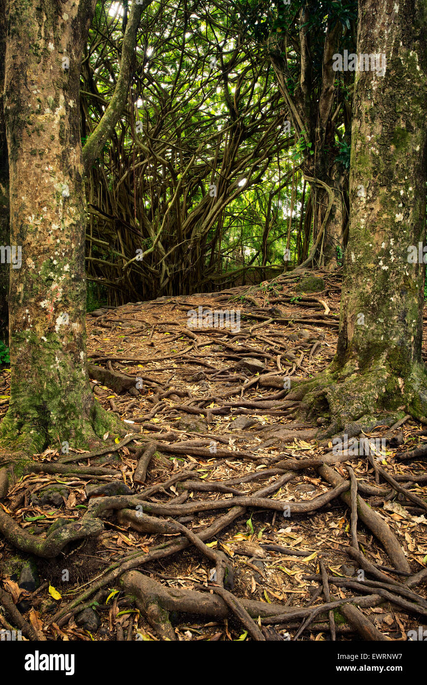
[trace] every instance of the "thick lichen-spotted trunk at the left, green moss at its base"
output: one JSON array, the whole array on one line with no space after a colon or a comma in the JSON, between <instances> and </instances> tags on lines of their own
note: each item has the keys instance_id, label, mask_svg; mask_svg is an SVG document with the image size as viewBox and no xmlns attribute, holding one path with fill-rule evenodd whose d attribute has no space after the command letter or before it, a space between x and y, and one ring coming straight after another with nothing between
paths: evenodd
<instances>
[{"instance_id":1,"label":"thick lichen-spotted trunk at the left, green moss at its base","mask_svg":"<svg viewBox=\"0 0 427 685\"><path fill-rule=\"evenodd\" d=\"M40 3L39 3L40 4ZM90 445L112 429L86 370L86 200L79 75L93 0L6 0L10 171L10 407L3 444Z\"/></svg>"}]
</instances>

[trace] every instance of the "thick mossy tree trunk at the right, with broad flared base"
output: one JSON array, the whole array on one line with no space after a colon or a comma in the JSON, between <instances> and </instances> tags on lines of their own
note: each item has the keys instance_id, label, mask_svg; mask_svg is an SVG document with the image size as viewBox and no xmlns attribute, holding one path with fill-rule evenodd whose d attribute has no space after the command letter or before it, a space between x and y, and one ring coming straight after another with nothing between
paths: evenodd
<instances>
[{"instance_id":1,"label":"thick mossy tree trunk at the right, with broad flared base","mask_svg":"<svg viewBox=\"0 0 427 685\"><path fill-rule=\"evenodd\" d=\"M422 0L359 0L357 52L385 53L387 69L383 77L357 73L337 353L331 369L304 388L305 408L329 414L336 430L357 419L369 423L378 411L427 414L419 260L426 210L426 19ZM301 396L302 388L294 394Z\"/></svg>"}]
</instances>

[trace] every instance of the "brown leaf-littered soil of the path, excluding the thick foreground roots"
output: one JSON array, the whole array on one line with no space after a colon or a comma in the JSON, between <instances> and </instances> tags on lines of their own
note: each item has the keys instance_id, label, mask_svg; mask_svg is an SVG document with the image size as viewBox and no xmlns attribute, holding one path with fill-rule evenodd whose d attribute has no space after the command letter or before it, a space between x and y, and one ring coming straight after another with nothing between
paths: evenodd
<instances>
[{"instance_id":1,"label":"brown leaf-littered soil of the path, excluding the thick foreground roots","mask_svg":"<svg viewBox=\"0 0 427 685\"><path fill-rule=\"evenodd\" d=\"M331 454L331 441L316 438L318 423L296 421L292 416L295 406L286 405L286 378L290 386L301 379L313 377L331 362L337 343L339 323L339 273L316 273L324 279L322 292L297 292L299 277L279 277L260 286L240 286L231 290L198 294L187 297L162 297L155 301L128 303L116 309L101 309L87 316L88 356L90 378L94 395L101 405L116 412L126 421L129 433L135 440L114 453L73 464L79 466L106 466L116 475L84 476L80 474L29 474L23 476L3 499L3 510L27 532L44 536L57 519L75 521L88 511L86 497L88 484L99 484L116 479L139 493L148 486L162 484L180 471L194 469L192 481L202 484L227 484L242 495L251 496L260 488L273 485L283 477L285 470L249 481L242 481L251 473L274 469L283 460L320 458ZM231 327L188 327L192 311L235 310L240 314L240 325ZM188 313L190 312L190 314ZM200 323L200 322L199 322ZM209 324L209 321L207 322ZM213 324L215 321L213 321ZM238 319L237 319L238 323ZM426 333L426 330L424 330ZM423 357L426 358L424 336ZM241 362L253 359L265 369L256 371ZM248 363L248 362L246 362ZM120 391L96 379L96 366L124 377ZM270 375L267 375L270 374ZM133 378L129 384L129 377ZM8 369L1 378L0 417L8 406ZM140 379L139 381L137 379ZM273 380L272 380L273 379ZM269 384L270 383L270 384ZM248 386L248 387L246 387ZM262 403L262 404L261 404ZM243 428L233 426L237 417L252 419ZM183 420L185 421L183 422ZM181 421L181 423L180 423ZM184 429L181 429L184 423ZM244 425L240 419L237 425ZM379 422L380 423L380 422ZM369 437L382 438L390 425L380 425ZM423 425L407 419L388 436L386 449L381 451L378 464L401 485L409 483L408 492L427 501L425 457L400 460L399 455L422 447ZM139 436L138 436L139 434ZM393 441L394 438L394 441ZM109 445L111 436L105 436ZM156 442L156 451L148 463L145 482L133 481L140 453L146 441ZM391 442L390 442L391 440ZM116 443L120 438L116 439ZM184 443L182 449L180 443ZM162 450L163 446L163 450ZM200 454L200 447L203 454ZM64 459L61 440L51 445L34 460L55 463ZM226 450L222 456L220 450ZM65 456L72 457L79 450L69 446ZM218 456L218 454L220 456ZM119 455L119 456L118 456ZM377 455L378 457L378 455ZM348 462L335 464L335 471L348 479L346 465L354 469L359 484L384 488L384 495L360 495L387 523L404 551L411 573L427 567L427 514L426 508L417 506L404 495L391 491L381 475L377 475L367 456L361 455ZM294 477L277 488L272 487L268 497L273 502L302 503L328 493L331 485L319 475L315 467L293 471ZM424 475L424 478L423 478ZM419 480L415 482L414 477ZM185 504L194 501L209 502L232 499L236 495L190 488L187 497L177 483L157 490L147 497L153 504L173 504L177 497ZM65 484L68 497L61 506L52 503L36 506L31 495L47 484ZM322 585L319 578L307 576L320 573L320 560L328 577L360 580L359 562L354 561L346 548L351 545L351 510L336 497L324 506L309 513L283 515L280 510L265 506L246 506L246 511L206 543L213 551L222 551L233 564L233 595L240 599L257 599L264 603L278 603L291 608L307 608L325 603L323 588L313 601L313 593ZM200 534L227 512L203 510L182 516L153 516L170 521L185 521L195 534ZM14 602L27 599L23 618L40 630L47 640L158 640L159 634L148 623L144 613L133 603L119 582L103 586L96 595L96 580L102 577L111 564L128 557L134 551L150 553L164 543L180 538L179 533L156 534L138 532L129 522L119 523L117 512L103 515L104 530L88 540L70 543L53 559L31 557L17 553L5 538L0 537L1 586L10 593ZM189 518L190 516L190 518ZM357 543L365 558L391 582L403 582L406 573L394 573L385 548L372 531L359 519ZM266 549L276 545L285 551ZM293 556L294 551L298 556ZM34 593L18 588L18 572L25 560L33 560L40 577L40 586ZM172 556L141 564L138 571L168 588L185 590L209 588L209 573L215 566L199 549L190 546ZM386 569L391 569L385 571ZM67 571L68 573L64 573ZM359 573L359 576L358 576ZM363 574L362 574L363 576ZM63 580L66 577L68 580ZM363 576L364 577L364 576ZM378 580L366 573L370 580ZM425 582L425 579L424 579ZM94 591L77 607L70 603L91 586ZM55 588L60 597L53 597ZM344 584L335 586L330 580L335 599L351 597L357 590ZM114 593L114 590L118 590ZM420 606L426 601L426 586L421 583L412 588L419 596ZM397 593L397 591L396 591ZM107 598L112 595L108 601ZM97 598L97 599L95 599ZM96 603L94 603L96 601ZM415 601L415 600L414 600ZM76 623L77 612L94 603L101 625L93 634ZM65 608L70 608L68 614ZM58 618L60 612L62 616ZM371 608L360 610L384 636L392 640L406 640L407 632L417 630L420 623L417 610L383 601ZM58 614L58 615L57 615ZM361 640L360 634L338 610L335 610L337 640ZM0 620L3 614L0 614ZM424 614L425 616L425 614ZM52 621L56 617L56 620ZM12 618L4 618L13 625ZM178 640L249 640L244 626L230 613L229 619L216 621L209 616L173 614L170 616ZM4 619L3 619L4 620ZM306 630L298 634L305 619L283 621L270 627L268 639L330 640L331 627L327 612L315 616ZM425 621L425 619L424 619ZM3 625L5 627L5 625ZM266 634L266 633L264 633ZM271 636L273 634L273 637Z\"/></svg>"}]
</instances>

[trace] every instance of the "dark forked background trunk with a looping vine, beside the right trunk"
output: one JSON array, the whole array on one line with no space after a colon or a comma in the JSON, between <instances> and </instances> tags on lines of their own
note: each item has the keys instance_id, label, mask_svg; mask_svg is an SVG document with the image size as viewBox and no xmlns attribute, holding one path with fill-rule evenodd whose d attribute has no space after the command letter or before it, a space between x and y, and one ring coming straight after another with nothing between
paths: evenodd
<instances>
[{"instance_id":1,"label":"dark forked background trunk with a looping vine, beside the right trunk","mask_svg":"<svg viewBox=\"0 0 427 685\"><path fill-rule=\"evenodd\" d=\"M301 169L305 181L311 185L314 225L318 234L322 231L318 245L311 249L309 258L300 266L314 262L326 271L333 271L337 266L337 248L342 251L345 247L348 223L348 178L344 169L341 170L338 163L333 161L338 152L335 142L337 121L333 114L333 107L336 106L333 54L339 45L341 24L339 21L331 21L326 29L319 95L313 82L315 73L311 35L305 29L313 14L314 4L307 3L300 10L300 79L298 84L294 84L293 91L289 90L289 82L293 81L293 77L289 72L287 59L283 56L289 50L289 45L292 45L291 36L287 36L286 32L272 32L267 46L279 88L287 103L287 116L296 132L296 138L305 142ZM344 123L348 123L345 112ZM316 236L313 236L313 245L315 239Z\"/></svg>"}]
</instances>

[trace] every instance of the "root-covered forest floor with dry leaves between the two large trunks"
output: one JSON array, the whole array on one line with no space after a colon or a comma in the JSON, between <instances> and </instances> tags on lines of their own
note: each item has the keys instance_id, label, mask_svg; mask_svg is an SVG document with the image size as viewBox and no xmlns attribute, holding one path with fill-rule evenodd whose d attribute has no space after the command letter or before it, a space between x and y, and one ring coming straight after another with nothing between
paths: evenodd
<instances>
[{"instance_id":1,"label":"root-covered forest floor with dry leaves between the two large trunks","mask_svg":"<svg viewBox=\"0 0 427 685\"><path fill-rule=\"evenodd\" d=\"M3 500L3 511L41 536L55 521L88 516L100 497L107 503L103 532L53 559L17 554L1 538L1 588L39 635L166 639L170 628L158 616L148 621L143 596L151 593L152 605L161 587L161 607L174 609L169 638L177 640L330 640L334 632L337 640L406 640L427 623L425 453L402 458L426 445L425 427L409 417L392 430L379 425L368 437L384 438L385 448L337 459L333 443L316 438L322 422L296 420L298 403L285 399L287 383L313 377L335 353L340 278L314 275L324 279L318 292L298 290L300 276L279 277L88 314L94 395L127 422L129 439L89 459L71 446L64 455L58 441L34 459L74 458L109 472L26 475ZM232 318L224 327L189 327L199 308L239 312L240 325ZM5 369L0 384L1 416ZM111 436L104 438L108 445ZM355 500L340 499L342 488L330 495L337 485L318 472L322 462L341 481L354 469L359 497L388 527L406 570L360 518L356 536ZM138 495L151 509L137 511ZM116 506L118 497L127 508ZM230 571L226 590L215 583L221 560ZM348 610L350 597L359 610ZM14 625L1 612L0 622Z\"/></svg>"}]
</instances>

